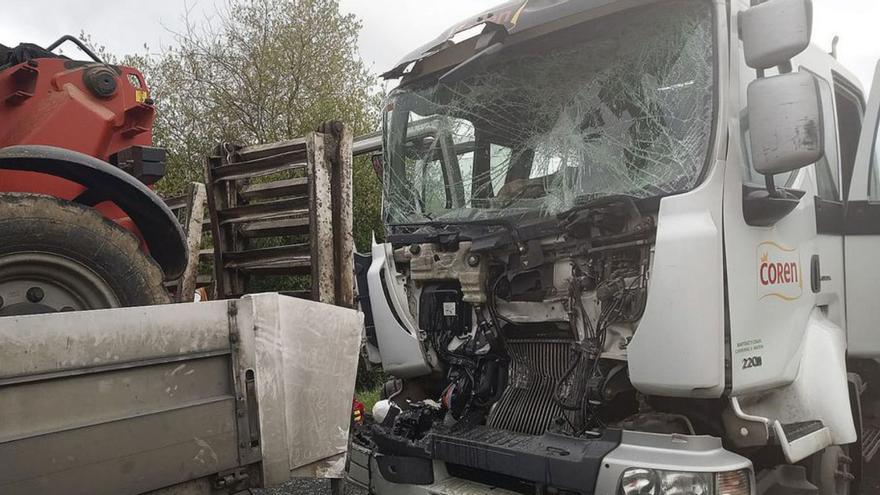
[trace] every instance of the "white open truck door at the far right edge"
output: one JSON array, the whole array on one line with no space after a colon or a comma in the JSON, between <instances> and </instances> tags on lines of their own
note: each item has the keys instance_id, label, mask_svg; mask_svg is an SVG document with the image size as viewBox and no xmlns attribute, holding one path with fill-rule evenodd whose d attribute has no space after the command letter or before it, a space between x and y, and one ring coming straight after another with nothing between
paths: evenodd
<instances>
[{"instance_id":1,"label":"white open truck door at the far right edge","mask_svg":"<svg viewBox=\"0 0 880 495\"><path fill-rule=\"evenodd\" d=\"M850 357L880 358L880 65L851 171L846 206L846 312ZM843 132L843 129L841 129ZM846 177L846 170L844 170Z\"/></svg>"}]
</instances>

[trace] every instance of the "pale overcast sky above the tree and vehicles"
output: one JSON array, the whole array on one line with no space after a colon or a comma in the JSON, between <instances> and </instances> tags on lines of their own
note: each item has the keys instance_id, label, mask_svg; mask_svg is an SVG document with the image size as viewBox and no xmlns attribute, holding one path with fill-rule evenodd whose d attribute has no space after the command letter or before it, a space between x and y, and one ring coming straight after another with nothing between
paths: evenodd
<instances>
[{"instance_id":1,"label":"pale overcast sky above the tree and vehicles","mask_svg":"<svg viewBox=\"0 0 880 495\"><path fill-rule=\"evenodd\" d=\"M48 44L61 34L90 33L118 54L152 51L173 43L184 5L194 16L210 16L223 0L3 0L0 43L22 40ZM361 55L376 73L450 25L501 0L340 0L363 21ZM814 0L814 42L830 49L840 35L840 58L868 87L880 59L880 1ZM14 14L9 15L9 13Z\"/></svg>"}]
</instances>

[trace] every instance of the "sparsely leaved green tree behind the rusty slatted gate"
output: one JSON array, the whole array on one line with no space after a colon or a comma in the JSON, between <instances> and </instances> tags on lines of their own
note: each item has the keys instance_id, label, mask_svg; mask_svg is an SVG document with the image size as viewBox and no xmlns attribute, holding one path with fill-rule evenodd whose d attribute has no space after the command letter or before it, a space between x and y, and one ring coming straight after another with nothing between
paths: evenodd
<instances>
[{"instance_id":1,"label":"sparsely leaved green tree behind the rusty slatted gate","mask_svg":"<svg viewBox=\"0 0 880 495\"><path fill-rule=\"evenodd\" d=\"M158 107L155 140L169 152L160 192L202 180L221 142L263 144L302 136L328 120L374 130L381 97L357 51L360 22L337 0L228 0L211 18L185 18L158 56L126 57L141 68ZM368 162L354 170L355 240L382 232L381 188Z\"/></svg>"}]
</instances>

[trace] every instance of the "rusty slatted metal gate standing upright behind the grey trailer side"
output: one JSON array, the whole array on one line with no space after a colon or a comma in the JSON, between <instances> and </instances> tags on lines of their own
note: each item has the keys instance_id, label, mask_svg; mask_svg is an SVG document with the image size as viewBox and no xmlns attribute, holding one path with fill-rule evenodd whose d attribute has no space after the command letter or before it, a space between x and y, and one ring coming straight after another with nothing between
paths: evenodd
<instances>
[{"instance_id":1,"label":"rusty slatted metal gate standing upright behind the grey trailer side","mask_svg":"<svg viewBox=\"0 0 880 495\"><path fill-rule=\"evenodd\" d=\"M353 305L352 142L331 122L290 141L217 147L205 167L217 298L283 277L288 295Z\"/></svg>"}]
</instances>

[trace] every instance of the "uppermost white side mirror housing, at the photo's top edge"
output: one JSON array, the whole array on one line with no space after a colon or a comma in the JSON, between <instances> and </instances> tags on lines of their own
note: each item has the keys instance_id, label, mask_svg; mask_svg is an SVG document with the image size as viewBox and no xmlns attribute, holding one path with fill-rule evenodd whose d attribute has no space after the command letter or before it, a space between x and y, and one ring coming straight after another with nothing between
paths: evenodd
<instances>
[{"instance_id":1,"label":"uppermost white side mirror housing, at the photo's top edge","mask_svg":"<svg viewBox=\"0 0 880 495\"><path fill-rule=\"evenodd\" d=\"M767 0L740 14L739 22L749 67L763 71L784 66L810 46L813 2Z\"/></svg>"}]
</instances>

